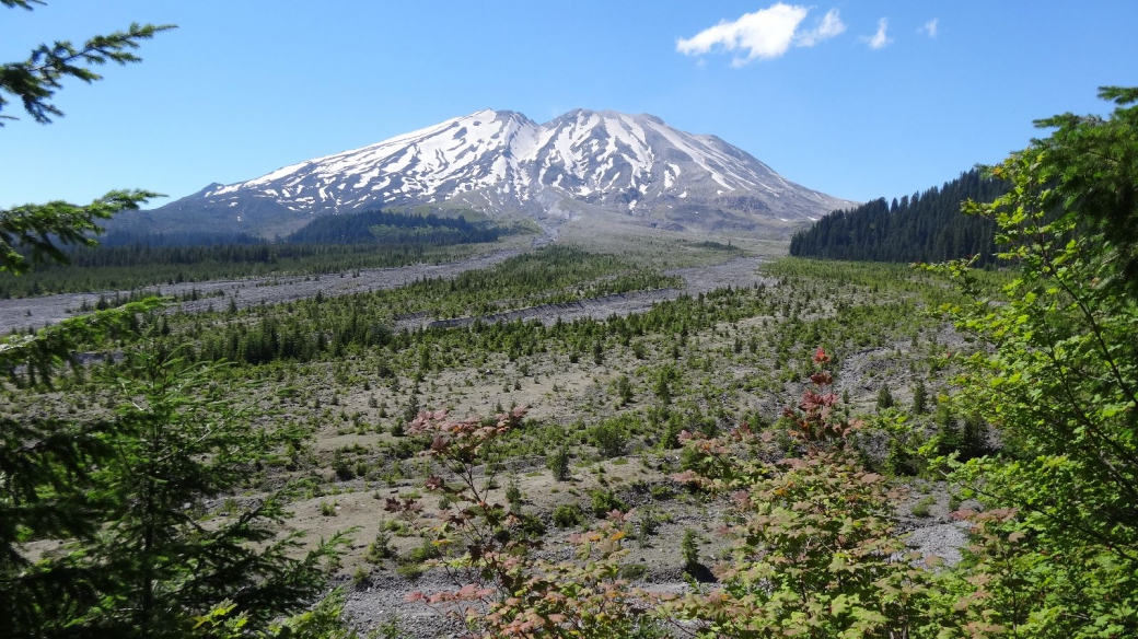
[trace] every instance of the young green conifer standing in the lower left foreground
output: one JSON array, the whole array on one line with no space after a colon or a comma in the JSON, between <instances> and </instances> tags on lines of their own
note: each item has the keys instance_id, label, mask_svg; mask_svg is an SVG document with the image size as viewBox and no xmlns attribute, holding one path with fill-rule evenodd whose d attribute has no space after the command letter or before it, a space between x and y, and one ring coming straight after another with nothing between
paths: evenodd
<instances>
[{"instance_id":1,"label":"young green conifer standing in the lower left foreground","mask_svg":"<svg viewBox=\"0 0 1138 639\"><path fill-rule=\"evenodd\" d=\"M215 365L150 348L130 352L115 371L124 401L107 438L114 455L92 482L110 522L84 545L83 561L112 583L83 621L91 631L179 636L225 601L250 630L265 628L324 588L320 559L345 540L291 557L298 536L275 539L288 490L199 523L206 499L244 486L266 450L296 435L253 428L211 384L216 374Z\"/></svg>"}]
</instances>

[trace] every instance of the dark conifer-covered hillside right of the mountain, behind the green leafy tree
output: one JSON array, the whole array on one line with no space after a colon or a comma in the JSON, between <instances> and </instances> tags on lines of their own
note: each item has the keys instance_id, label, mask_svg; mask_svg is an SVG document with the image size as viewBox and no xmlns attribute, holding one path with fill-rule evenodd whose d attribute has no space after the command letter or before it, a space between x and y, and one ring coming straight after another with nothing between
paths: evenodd
<instances>
[{"instance_id":1,"label":"dark conifer-covered hillside right of the mountain, behind the green leafy tree","mask_svg":"<svg viewBox=\"0 0 1138 639\"><path fill-rule=\"evenodd\" d=\"M943 262L979 255L978 265L991 264L996 225L964 215L960 202L990 202L1006 190L1003 182L973 169L940 189L933 186L900 201L881 198L831 213L795 233L790 254L865 262Z\"/></svg>"}]
</instances>

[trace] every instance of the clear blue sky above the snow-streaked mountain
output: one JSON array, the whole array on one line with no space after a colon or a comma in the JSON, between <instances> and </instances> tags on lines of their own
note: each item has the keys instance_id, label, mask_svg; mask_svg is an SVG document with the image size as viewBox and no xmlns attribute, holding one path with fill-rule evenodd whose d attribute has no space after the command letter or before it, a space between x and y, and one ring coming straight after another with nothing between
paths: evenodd
<instances>
[{"instance_id":1,"label":"clear blue sky above the snow-streaked mountain","mask_svg":"<svg viewBox=\"0 0 1138 639\"><path fill-rule=\"evenodd\" d=\"M487 107L650 113L867 200L997 161L1032 119L1105 113L1097 86L1138 84L1138 2L1106 0L50 0L0 9L0 60L133 20L180 28L140 65L67 83L51 125L5 110L20 121L0 130L0 207L179 198Z\"/></svg>"}]
</instances>

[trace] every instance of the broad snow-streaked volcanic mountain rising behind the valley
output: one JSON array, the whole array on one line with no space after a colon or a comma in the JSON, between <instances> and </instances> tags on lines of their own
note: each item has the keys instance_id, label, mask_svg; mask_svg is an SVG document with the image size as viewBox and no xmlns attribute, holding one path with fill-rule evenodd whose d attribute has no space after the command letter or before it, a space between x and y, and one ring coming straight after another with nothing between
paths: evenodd
<instances>
[{"instance_id":1,"label":"broad snow-streaked volcanic mountain rising behind the valley","mask_svg":"<svg viewBox=\"0 0 1138 639\"><path fill-rule=\"evenodd\" d=\"M211 184L121 224L133 232L271 238L313 215L427 205L543 225L604 218L789 236L852 204L790 182L719 138L651 115L578 109L537 124L486 109L255 180Z\"/></svg>"}]
</instances>

